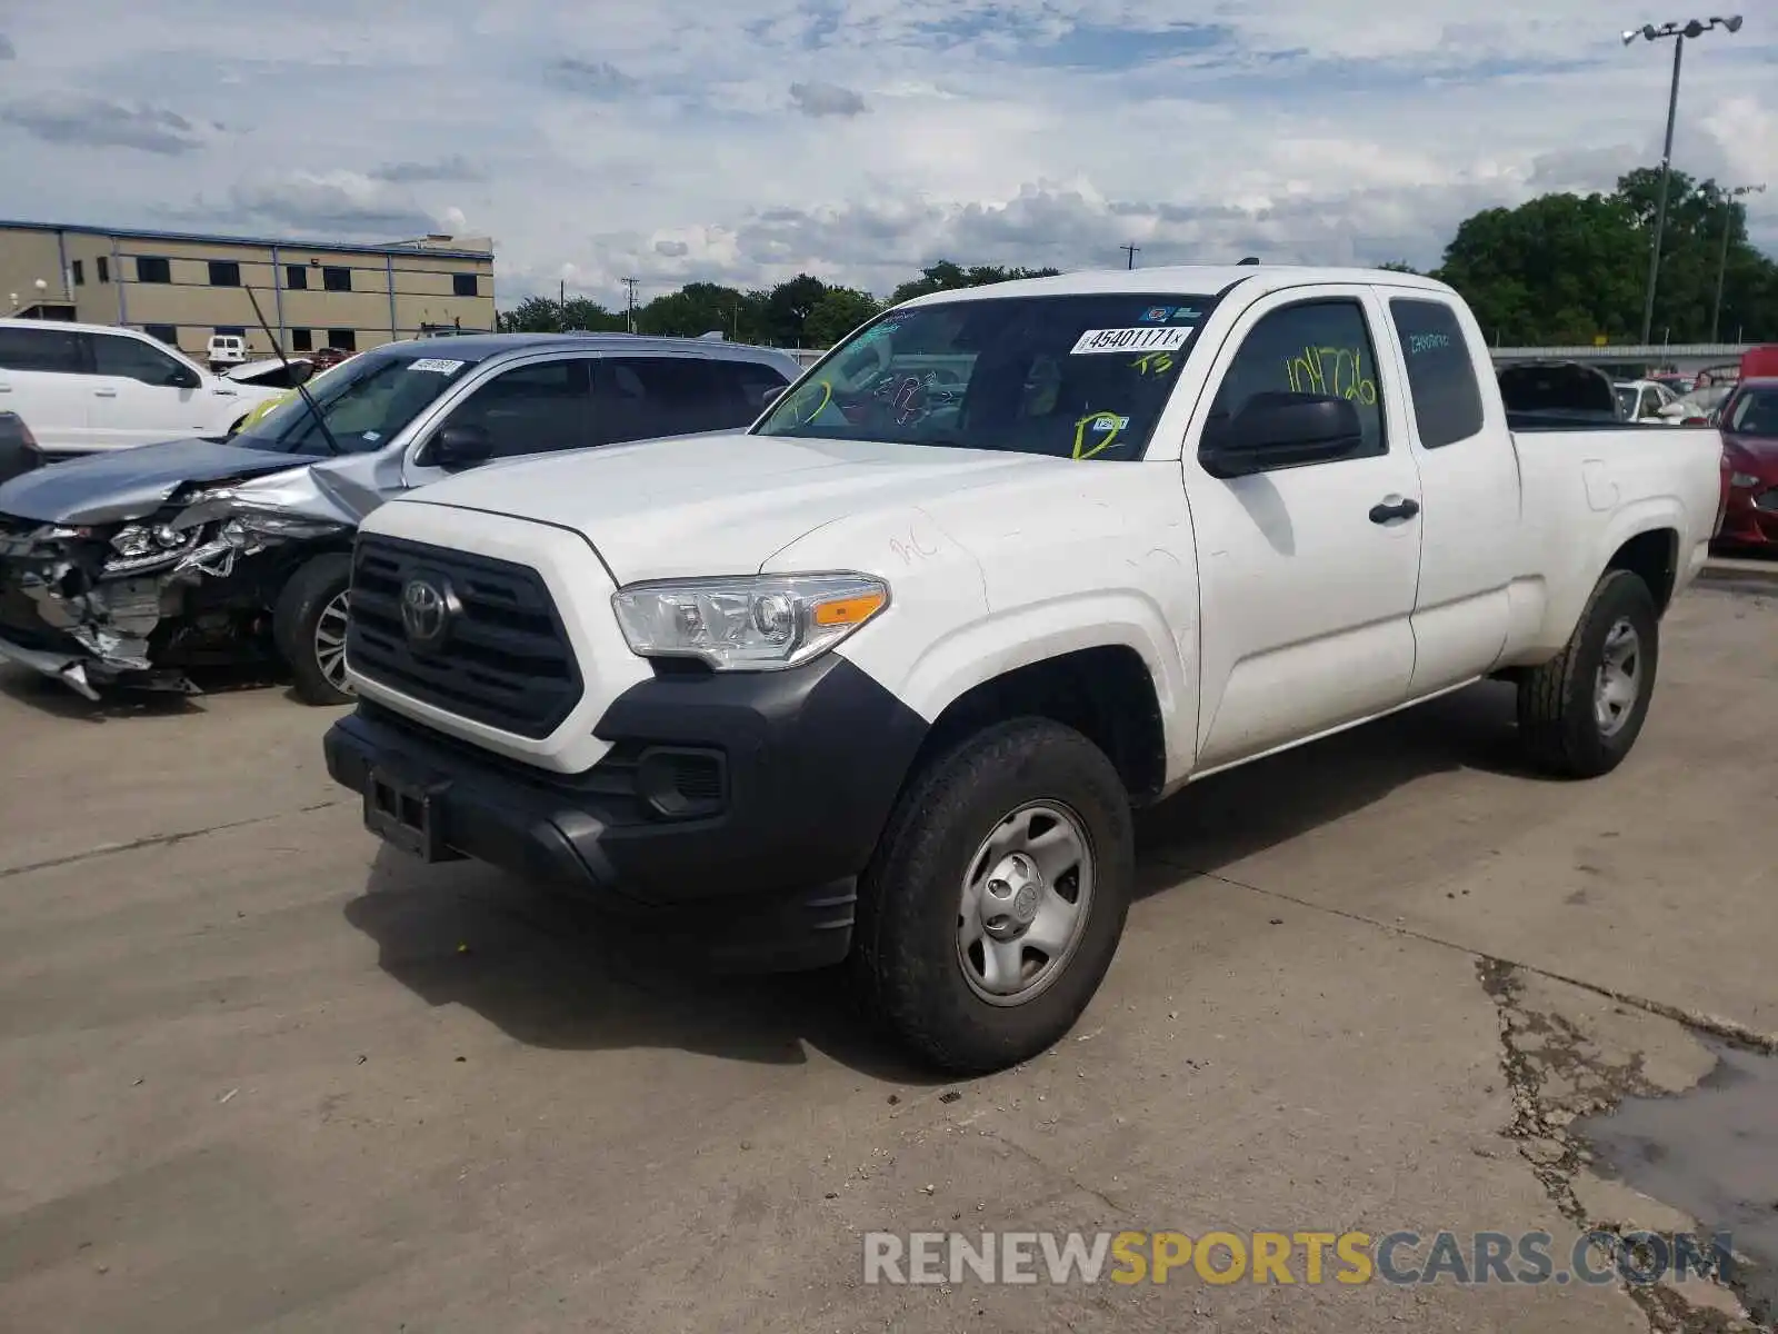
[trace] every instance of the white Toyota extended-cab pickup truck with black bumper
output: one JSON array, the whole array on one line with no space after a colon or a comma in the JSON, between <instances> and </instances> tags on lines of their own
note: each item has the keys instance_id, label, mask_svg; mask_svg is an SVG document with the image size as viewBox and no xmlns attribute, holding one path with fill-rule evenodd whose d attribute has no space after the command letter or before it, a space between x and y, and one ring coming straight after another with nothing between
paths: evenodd
<instances>
[{"instance_id":1,"label":"white Toyota extended-cab pickup truck with black bumper","mask_svg":"<svg viewBox=\"0 0 1778 1334\"><path fill-rule=\"evenodd\" d=\"M989 1071L1099 987L1138 804L1488 676L1542 765L1618 765L1719 459L1710 429L1515 432L1422 277L942 292L747 432L379 509L327 763L412 854L718 964L845 959L917 1057Z\"/></svg>"}]
</instances>

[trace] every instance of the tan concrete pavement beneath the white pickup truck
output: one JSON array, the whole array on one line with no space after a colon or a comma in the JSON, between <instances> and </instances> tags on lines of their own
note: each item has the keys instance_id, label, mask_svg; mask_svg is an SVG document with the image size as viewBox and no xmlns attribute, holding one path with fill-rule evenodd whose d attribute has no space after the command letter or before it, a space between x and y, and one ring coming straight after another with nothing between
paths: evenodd
<instances>
[{"instance_id":1,"label":"tan concrete pavement beneath the white pickup truck","mask_svg":"<svg viewBox=\"0 0 1778 1334\"><path fill-rule=\"evenodd\" d=\"M1710 1069L1677 1017L1778 1032L1774 630L1682 599L1600 783L1515 772L1483 687L1188 790L1076 1033L962 1085L830 978L377 848L281 692L0 678L0 1327L1735 1329L1700 1284L875 1288L861 1234L1689 1226L1577 1119Z\"/></svg>"}]
</instances>

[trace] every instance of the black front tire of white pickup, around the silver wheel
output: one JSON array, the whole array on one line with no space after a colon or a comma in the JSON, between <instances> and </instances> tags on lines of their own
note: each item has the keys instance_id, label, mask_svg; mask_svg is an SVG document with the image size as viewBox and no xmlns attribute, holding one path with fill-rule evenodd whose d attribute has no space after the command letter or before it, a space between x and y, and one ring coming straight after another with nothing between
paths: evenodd
<instances>
[{"instance_id":1,"label":"black front tire of white pickup, around the silver wheel","mask_svg":"<svg viewBox=\"0 0 1778 1334\"><path fill-rule=\"evenodd\" d=\"M1029 802L1077 816L1093 856L1086 921L1049 984L1019 1005L971 987L958 955L969 861ZM1099 991L1134 879L1129 795L1104 752L1047 719L996 724L935 756L903 790L859 882L848 960L866 1012L910 1055L949 1074L1006 1069L1053 1046Z\"/></svg>"}]
</instances>

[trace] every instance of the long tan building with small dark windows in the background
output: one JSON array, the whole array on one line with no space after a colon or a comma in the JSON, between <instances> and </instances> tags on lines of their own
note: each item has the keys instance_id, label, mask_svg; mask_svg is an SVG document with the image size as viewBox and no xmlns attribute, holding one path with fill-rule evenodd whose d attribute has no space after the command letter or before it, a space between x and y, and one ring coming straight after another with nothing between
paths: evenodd
<instances>
[{"instance_id":1,"label":"long tan building with small dark windows in the background","mask_svg":"<svg viewBox=\"0 0 1778 1334\"><path fill-rule=\"evenodd\" d=\"M249 358L270 356L247 288L284 352L361 352L428 327L487 331L494 244L331 245L0 221L0 315L130 325L197 359L212 334L242 334Z\"/></svg>"}]
</instances>

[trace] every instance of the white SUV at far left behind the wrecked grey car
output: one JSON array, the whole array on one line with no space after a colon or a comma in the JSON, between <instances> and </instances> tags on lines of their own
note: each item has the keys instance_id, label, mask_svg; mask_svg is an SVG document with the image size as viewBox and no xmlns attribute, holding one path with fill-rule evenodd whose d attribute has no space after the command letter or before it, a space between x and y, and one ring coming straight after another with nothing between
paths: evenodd
<instances>
[{"instance_id":1,"label":"white SUV at far left behind the wrecked grey car","mask_svg":"<svg viewBox=\"0 0 1778 1334\"><path fill-rule=\"evenodd\" d=\"M0 411L44 454L228 436L281 390L213 375L137 329L0 320Z\"/></svg>"}]
</instances>

